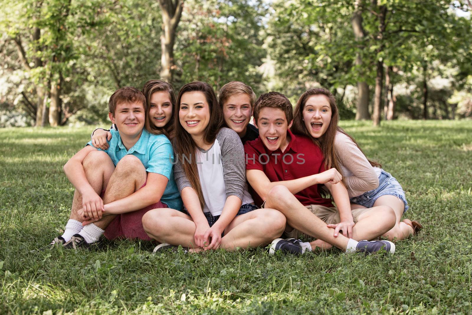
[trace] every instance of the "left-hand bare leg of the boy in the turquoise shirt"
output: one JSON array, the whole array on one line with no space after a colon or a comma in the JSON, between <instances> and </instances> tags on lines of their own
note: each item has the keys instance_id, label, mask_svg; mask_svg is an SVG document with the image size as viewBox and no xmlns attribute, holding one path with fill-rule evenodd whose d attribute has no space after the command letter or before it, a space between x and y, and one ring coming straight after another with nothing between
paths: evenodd
<instances>
[{"instance_id":1,"label":"left-hand bare leg of the boy in the turquoise shirt","mask_svg":"<svg viewBox=\"0 0 472 315\"><path fill-rule=\"evenodd\" d=\"M90 186L92 186L97 195L100 195L101 191L106 189L111 174L115 170L113 162L107 153L92 151L85 157L82 165L84 166L85 177ZM77 211L80 209L82 209L82 195L76 189L69 218L82 222L82 218L77 214Z\"/></svg>"}]
</instances>

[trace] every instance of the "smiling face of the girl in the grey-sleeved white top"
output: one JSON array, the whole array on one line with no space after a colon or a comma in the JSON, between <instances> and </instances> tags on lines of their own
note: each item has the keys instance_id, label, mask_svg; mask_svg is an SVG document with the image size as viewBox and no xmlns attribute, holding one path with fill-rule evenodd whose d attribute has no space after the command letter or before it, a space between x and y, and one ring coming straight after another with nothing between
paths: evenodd
<instances>
[{"instance_id":1,"label":"smiling face of the girl in the grey-sleeved white top","mask_svg":"<svg viewBox=\"0 0 472 315\"><path fill-rule=\"evenodd\" d=\"M210 122L210 106L200 91L185 92L180 99L178 118L192 138L201 139Z\"/></svg>"}]
</instances>

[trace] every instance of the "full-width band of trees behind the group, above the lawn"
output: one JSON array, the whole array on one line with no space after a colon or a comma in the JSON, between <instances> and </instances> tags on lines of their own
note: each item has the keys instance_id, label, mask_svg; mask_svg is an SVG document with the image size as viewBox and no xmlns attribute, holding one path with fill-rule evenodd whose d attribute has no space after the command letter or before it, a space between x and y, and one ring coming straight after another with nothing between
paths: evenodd
<instances>
[{"instance_id":1,"label":"full-width band of trees behind the group, above the lawn","mask_svg":"<svg viewBox=\"0 0 472 315\"><path fill-rule=\"evenodd\" d=\"M232 80L342 119L472 116L470 0L3 0L0 127L92 124L109 96L161 78Z\"/></svg>"}]
</instances>

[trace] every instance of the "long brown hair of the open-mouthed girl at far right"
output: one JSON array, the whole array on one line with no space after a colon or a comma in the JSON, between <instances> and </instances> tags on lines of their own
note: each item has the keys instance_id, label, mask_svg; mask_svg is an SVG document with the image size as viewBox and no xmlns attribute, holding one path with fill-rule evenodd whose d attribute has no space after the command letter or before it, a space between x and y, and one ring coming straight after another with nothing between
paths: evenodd
<instances>
[{"instance_id":1,"label":"long brown hair of the open-mouthed girl at far right","mask_svg":"<svg viewBox=\"0 0 472 315\"><path fill-rule=\"evenodd\" d=\"M326 132L320 136L319 138L314 138L310 132L307 130L304 122L303 122L303 108L305 107L305 103L313 95L324 95L329 101L329 106L331 107L331 122L329 123L328 129L326 129ZM303 136L308 136L312 139L313 143L318 145L321 148L321 151L323 153L324 159L325 159L325 168L329 170L330 168L336 168L339 173L342 174L342 170L339 167L339 157L334 149L334 139L336 137L337 132L341 132L348 136L352 142L354 142L355 145L359 148L359 150L362 149L359 147L357 142L354 140L354 138L346 133L346 131L343 130L343 128L338 126L339 123L339 111L337 109L336 105L336 99L329 92L329 90L322 89L322 88L317 88L317 89L310 89L306 91L305 93L300 96L298 101L296 102L295 105L295 110L294 110L294 122L292 124L292 132L295 134L303 135ZM363 153L363 152L362 152ZM365 155L365 154L364 154ZM366 157L367 158L367 157ZM377 166L377 167L382 167L380 163L371 161L367 159L369 163L371 163L372 166Z\"/></svg>"}]
</instances>

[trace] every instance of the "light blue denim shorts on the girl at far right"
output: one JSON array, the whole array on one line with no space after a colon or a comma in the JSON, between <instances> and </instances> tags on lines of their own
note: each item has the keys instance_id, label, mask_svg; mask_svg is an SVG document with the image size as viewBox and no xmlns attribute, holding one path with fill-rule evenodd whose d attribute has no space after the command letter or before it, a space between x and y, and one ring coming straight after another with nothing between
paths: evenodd
<instances>
[{"instance_id":1,"label":"light blue denim shorts on the girl at far right","mask_svg":"<svg viewBox=\"0 0 472 315\"><path fill-rule=\"evenodd\" d=\"M406 201L405 191L403 191L400 183L385 170L380 170L379 187L363 193L361 196L351 198L351 203L360 204L367 208L372 208L375 201L384 195L392 195L400 198L405 204L403 213L408 210L408 202Z\"/></svg>"}]
</instances>

